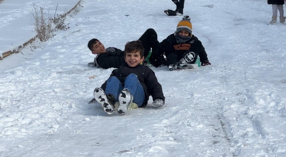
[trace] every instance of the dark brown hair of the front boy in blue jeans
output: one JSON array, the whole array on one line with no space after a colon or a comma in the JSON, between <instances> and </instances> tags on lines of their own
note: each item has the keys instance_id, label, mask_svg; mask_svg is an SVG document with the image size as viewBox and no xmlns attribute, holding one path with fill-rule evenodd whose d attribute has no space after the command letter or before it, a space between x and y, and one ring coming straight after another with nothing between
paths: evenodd
<instances>
[{"instance_id":1,"label":"dark brown hair of the front boy in blue jeans","mask_svg":"<svg viewBox=\"0 0 286 157\"><path fill-rule=\"evenodd\" d=\"M142 58L144 56L144 47L140 40L127 42L124 49L124 57L126 57L127 53L136 53L138 51L140 58Z\"/></svg>"}]
</instances>

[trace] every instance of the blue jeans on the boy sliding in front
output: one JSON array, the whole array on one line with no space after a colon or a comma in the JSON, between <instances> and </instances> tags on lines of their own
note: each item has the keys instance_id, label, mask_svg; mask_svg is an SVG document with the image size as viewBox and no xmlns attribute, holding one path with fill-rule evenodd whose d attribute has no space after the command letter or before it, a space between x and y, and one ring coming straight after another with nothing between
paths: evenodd
<instances>
[{"instance_id":1,"label":"blue jeans on the boy sliding in front","mask_svg":"<svg viewBox=\"0 0 286 157\"><path fill-rule=\"evenodd\" d=\"M124 87L117 77L110 77L106 82L105 93L112 94L116 101L118 101L118 96L124 88L127 88L133 96L132 102L136 103L138 107L143 104L145 100L145 92L135 74L130 74L126 77Z\"/></svg>"}]
</instances>

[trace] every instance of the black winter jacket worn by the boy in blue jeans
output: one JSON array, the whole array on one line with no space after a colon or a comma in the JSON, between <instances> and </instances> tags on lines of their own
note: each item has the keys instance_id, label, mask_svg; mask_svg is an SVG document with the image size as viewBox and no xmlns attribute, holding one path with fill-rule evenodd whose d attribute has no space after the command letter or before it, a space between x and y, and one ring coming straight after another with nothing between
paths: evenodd
<instances>
[{"instance_id":1,"label":"black winter jacket worn by the boy in blue jeans","mask_svg":"<svg viewBox=\"0 0 286 157\"><path fill-rule=\"evenodd\" d=\"M122 86L124 86L126 77L132 73L137 75L145 93L145 101L140 107L147 105L150 95L152 96L153 101L156 99L162 99L165 101L161 84L158 82L155 73L146 66L139 64L136 67L129 67L127 63L124 63L120 68L114 69L110 77L117 77L117 79L120 80ZM106 82L107 80L101 86L103 90L106 88Z\"/></svg>"}]
</instances>

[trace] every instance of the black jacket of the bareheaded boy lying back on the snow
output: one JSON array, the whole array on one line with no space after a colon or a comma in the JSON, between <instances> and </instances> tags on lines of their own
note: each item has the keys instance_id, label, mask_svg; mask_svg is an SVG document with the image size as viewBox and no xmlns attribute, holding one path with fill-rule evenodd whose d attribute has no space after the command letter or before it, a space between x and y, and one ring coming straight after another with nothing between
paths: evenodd
<instances>
[{"instance_id":1,"label":"black jacket of the bareheaded boy lying back on the snow","mask_svg":"<svg viewBox=\"0 0 286 157\"><path fill-rule=\"evenodd\" d=\"M96 56L96 63L104 69L119 68L122 64L126 63L124 60L124 51L115 47L108 47L105 53Z\"/></svg>"}]
</instances>

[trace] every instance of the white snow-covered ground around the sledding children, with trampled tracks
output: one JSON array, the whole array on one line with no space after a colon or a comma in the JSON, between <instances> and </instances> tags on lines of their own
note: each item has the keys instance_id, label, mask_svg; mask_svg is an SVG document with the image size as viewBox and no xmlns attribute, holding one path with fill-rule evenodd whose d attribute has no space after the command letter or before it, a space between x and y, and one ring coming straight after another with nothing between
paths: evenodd
<instances>
[{"instance_id":1,"label":"white snow-covered ground around the sledding children, with trampled tracks","mask_svg":"<svg viewBox=\"0 0 286 157\"><path fill-rule=\"evenodd\" d=\"M8 15L28 13L27 4L0 9L1 21L22 23ZM84 0L82 6L67 17L70 29L42 49L0 61L0 156L286 156L286 25L267 25L266 0L186 1L184 14L212 65L152 68L165 106L154 108L151 99L125 116L88 104L113 70L87 67L95 57L88 41L124 49L148 28L162 41L182 16L163 13L175 8L171 0Z\"/></svg>"}]
</instances>

